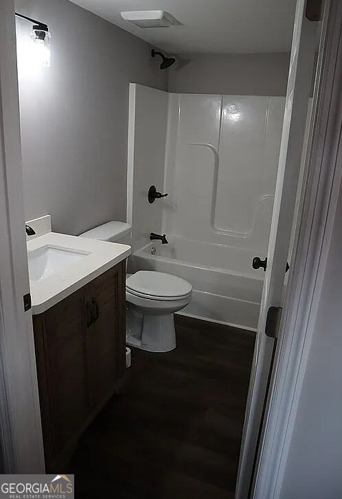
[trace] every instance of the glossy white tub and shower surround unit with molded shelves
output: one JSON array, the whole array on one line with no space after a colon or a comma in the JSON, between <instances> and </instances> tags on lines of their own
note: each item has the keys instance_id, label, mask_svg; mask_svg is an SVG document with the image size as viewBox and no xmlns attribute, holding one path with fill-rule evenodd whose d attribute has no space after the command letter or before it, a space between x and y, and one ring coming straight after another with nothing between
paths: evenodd
<instances>
[{"instance_id":1,"label":"glossy white tub and shower surround unit with molded shelves","mask_svg":"<svg viewBox=\"0 0 342 499\"><path fill-rule=\"evenodd\" d=\"M184 277L182 314L256 329L284 97L176 94L130 85L128 222L133 270ZM168 197L150 205L156 185ZM148 239L166 233L169 244Z\"/></svg>"}]
</instances>

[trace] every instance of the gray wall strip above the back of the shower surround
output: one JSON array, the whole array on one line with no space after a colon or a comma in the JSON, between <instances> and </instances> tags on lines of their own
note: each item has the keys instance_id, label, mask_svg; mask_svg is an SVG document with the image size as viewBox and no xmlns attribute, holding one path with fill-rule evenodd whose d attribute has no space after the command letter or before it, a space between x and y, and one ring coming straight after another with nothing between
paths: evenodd
<instances>
[{"instance_id":1,"label":"gray wall strip above the back of the shower surround","mask_svg":"<svg viewBox=\"0 0 342 499\"><path fill-rule=\"evenodd\" d=\"M170 69L169 90L179 93L286 95L290 54L181 54Z\"/></svg>"}]
</instances>

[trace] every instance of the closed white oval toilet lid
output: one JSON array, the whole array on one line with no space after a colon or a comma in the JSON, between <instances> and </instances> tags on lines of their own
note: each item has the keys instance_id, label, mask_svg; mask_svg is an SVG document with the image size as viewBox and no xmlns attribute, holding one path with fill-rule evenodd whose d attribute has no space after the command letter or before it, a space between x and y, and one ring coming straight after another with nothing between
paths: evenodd
<instances>
[{"instance_id":1,"label":"closed white oval toilet lid","mask_svg":"<svg viewBox=\"0 0 342 499\"><path fill-rule=\"evenodd\" d=\"M126 280L126 288L133 293L166 299L185 297L192 292L185 279L153 270L135 272Z\"/></svg>"}]
</instances>

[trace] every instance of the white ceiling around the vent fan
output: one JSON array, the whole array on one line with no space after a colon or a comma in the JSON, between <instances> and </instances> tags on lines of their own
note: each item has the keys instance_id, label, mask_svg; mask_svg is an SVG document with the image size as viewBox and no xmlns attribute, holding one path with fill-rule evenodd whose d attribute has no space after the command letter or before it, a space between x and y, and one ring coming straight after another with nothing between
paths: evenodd
<instances>
[{"instance_id":1,"label":"white ceiling around the vent fan","mask_svg":"<svg viewBox=\"0 0 342 499\"><path fill-rule=\"evenodd\" d=\"M295 0L71 0L169 54L290 50ZM139 28L125 10L166 10L180 26Z\"/></svg>"}]
</instances>

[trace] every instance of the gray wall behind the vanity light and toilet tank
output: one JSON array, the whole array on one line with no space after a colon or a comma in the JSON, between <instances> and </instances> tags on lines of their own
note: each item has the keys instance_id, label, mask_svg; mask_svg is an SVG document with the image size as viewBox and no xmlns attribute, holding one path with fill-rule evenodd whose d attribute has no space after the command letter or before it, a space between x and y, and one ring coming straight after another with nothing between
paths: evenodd
<instances>
[{"instance_id":1,"label":"gray wall behind the vanity light and toilet tank","mask_svg":"<svg viewBox=\"0 0 342 499\"><path fill-rule=\"evenodd\" d=\"M16 0L49 25L52 66L25 67L32 25L17 21L26 219L51 213L78 234L126 220L128 83L167 89L150 45L67 0Z\"/></svg>"}]
</instances>

